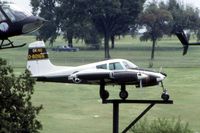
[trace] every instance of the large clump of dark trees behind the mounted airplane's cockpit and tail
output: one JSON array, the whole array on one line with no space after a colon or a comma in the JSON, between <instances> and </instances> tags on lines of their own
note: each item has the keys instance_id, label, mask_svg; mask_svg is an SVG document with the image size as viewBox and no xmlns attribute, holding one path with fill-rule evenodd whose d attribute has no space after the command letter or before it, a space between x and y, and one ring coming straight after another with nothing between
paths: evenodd
<instances>
[{"instance_id":1,"label":"large clump of dark trees behind the mounted airplane's cockpit and tail","mask_svg":"<svg viewBox=\"0 0 200 133\"><path fill-rule=\"evenodd\" d=\"M54 41L56 31L72 46L73 38L88 39L91 28L104 37L105 58L110 58L109 39L129 30L145 0L31 0L33 11L49 20L39 39ZM88 28L88 25L93 25ZM51 29L50 29L51 28ZM50 30L49 30L50 29Z\"/></svg>"}]
</instances>

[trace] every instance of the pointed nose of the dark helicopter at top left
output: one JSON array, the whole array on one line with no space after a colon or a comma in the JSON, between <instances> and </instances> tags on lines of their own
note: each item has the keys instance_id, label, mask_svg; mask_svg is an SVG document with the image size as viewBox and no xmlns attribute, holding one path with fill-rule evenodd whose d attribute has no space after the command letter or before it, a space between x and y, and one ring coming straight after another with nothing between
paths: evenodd
<instances>
[{"instance_id":1,"label":"pointed nose of the dark helicopter at top left","mask_svg":"<svg viewBox=\"0 0 200 133\"><path fill-rule=\"evenodd\" d=\"M26 34L26 33L36 31L39 28L41 28L45 22L46 20L41 17L32 16L31 21L29 21L23 26L22 33Z\"/></svg>"}]
</instances>

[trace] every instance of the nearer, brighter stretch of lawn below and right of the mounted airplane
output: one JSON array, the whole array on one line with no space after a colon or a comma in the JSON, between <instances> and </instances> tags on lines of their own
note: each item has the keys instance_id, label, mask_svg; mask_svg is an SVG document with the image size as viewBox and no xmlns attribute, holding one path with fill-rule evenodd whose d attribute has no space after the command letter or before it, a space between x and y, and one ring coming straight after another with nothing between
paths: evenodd
<instances>
[{"instance_id":1,"label":"nearer, brighter stretch of lawn below and right of the mounted airplane","mask_svg":"<svg viewBox=\"0 0 200 133\"><path fill-rule=\"evenodd\" d=\"M178 119L188 122L194 131L200 131L199 70L196 68L167 68L165 86L173 105L156 105L148 120ZM176 74L174 74L176 73ZM180 77L183 76L184 77ZM118 97L119 87L108 86L111 97ZM49 132L112 132L112 106L101 104L97 86L37 83L34 102L43 104L40 114L44 133ZM129 98L159 99L161 88L135 89L128 87ZM120 130L124 129L147 105L120 105Z\"/></svg>"}]
</instances>

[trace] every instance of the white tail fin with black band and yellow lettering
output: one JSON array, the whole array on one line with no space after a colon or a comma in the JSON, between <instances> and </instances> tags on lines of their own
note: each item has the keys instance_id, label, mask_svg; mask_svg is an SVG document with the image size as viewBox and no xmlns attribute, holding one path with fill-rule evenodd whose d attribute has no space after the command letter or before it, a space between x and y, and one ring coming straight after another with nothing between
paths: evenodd
<instances>
[{"instance_id":1,"label":"white tail fin with black band and yellow lettering","mask_svg":"<svg viewBox=\"0 0 200 133\"><path fill-rule=\"evenodd\" d=\"M48 58L48 53L45 49L43 41L37 41L29 44L27 69L32 76L40 76L48 73L54 68L54 65Z\"/></svg>"}]
</instances>

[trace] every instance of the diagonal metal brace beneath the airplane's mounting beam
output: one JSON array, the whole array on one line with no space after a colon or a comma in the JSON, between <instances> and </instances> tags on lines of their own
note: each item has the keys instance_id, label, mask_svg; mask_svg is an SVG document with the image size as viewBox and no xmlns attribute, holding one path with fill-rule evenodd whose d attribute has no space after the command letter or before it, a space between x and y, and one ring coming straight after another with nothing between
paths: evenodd
<instances>
[{"instance_id":1,"label":"diagonal metal brace beneath the airplane's mounting beam","mask_svg":"<svg viewBox=\"0 0 200 133\"><path fill-rule=\"evenodd\" d=\"M133 127L153 106L155 103L151 103L122 133L126 133L131 127Z\"/></svg>"}]
</instances>

